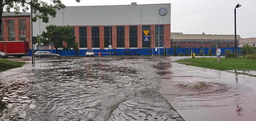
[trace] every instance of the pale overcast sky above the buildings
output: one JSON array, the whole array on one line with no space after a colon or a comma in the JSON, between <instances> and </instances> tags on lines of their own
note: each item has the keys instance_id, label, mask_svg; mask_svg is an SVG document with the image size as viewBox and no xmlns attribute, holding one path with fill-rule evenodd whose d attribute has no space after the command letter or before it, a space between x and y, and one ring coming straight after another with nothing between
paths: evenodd
<instances>
[{"instance_id":1,"label":"pale overcast sky above the buildings","mask_svg":"<svg viewBox=\"0 0 256 121\"><path fill-rule=\"evenodd\" d=\"M171 3L171 32L183 34L234 35L234 9L237 8L237 35L256 37L256 0L61 0L66 6L102 6Z\"/></svg>"}]
</instances>

